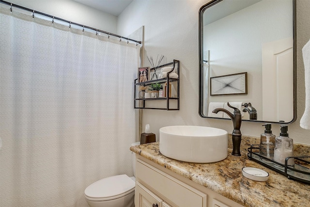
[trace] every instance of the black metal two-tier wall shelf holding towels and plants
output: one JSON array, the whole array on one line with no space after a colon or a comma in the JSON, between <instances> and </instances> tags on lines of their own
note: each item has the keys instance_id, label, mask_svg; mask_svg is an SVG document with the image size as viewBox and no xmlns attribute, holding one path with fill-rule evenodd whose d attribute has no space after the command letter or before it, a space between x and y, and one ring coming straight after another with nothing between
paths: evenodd
<instances>
[{"instance_id":1,"label":"black metal two-tier wall shelf holding towels and plants","mask_svg":"<svg viewBox=\"0 0 310 207\"><path fill-rule=\"evenodd\" d=\"M135 80L135 93L134 93L134 108L135 109L155 109L155 110L167 110L167 111L176 111L180 109L180 61L178 60L173 60L173 62L168 63L168 64L163 64L163 65L159 65L155 68L151 68L150 70L154 71L155 69L158 68L162 68L165 66L169 66L172 65L172 69L170 72L167 72L167 78L164 79L157 79L157 80L149 80L146 82L137 82L138 79ZM176 74L178 74L178 78L174 79L174 78L170 78L170 73L174 71ZM176 82L177 84L177 97L169 97L170 94L170 87L167 87L167 92L166 94L168 95L167 97L160 97L160 98L138 98L137 97L137 86L148 86L151 85L152 83L167 83L167 85L169 85L170 82ZM171 101L176 101L176 103L174 104L174 108L171 108ZM157 108L157 107L146 107L145 102L147 101L166 101L165 107L163 108Z\"/></svg>"}]
</instances>

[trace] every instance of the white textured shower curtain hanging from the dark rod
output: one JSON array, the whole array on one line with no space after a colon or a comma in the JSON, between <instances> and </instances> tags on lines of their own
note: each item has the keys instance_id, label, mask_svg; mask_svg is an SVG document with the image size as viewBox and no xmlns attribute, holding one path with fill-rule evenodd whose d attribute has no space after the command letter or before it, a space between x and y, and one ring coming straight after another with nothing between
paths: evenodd
<instances>
[{"instance_id":1,"label":"white textured shower curtain hanging from the dark rod","mask_svg":"<svg viewBox=\"0 0 310 207\"><path fill-rule=\"evenodd\" d=\"M132 176L140 48L0 9L0 206L86 207Z\"/></svg>"}]
</instances>

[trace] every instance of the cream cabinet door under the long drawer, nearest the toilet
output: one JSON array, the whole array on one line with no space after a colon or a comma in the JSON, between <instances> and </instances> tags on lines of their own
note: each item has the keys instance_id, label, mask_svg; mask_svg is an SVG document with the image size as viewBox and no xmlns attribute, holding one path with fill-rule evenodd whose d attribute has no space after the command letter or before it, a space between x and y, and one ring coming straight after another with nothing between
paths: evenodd
<instances>
[{"instance_id":1,"label":"cream cabinet door under the long drawer, nearest the toilet","mask_svg":"<svg viewBox=\"0 0 310 207\"><path fill-rule=\"evenodd\" d=\"M163 200L146 187L136 182L135 206L136 207L162 207ZM167 206L166 206L167 207Z\"/></svg>"}]
</instances>

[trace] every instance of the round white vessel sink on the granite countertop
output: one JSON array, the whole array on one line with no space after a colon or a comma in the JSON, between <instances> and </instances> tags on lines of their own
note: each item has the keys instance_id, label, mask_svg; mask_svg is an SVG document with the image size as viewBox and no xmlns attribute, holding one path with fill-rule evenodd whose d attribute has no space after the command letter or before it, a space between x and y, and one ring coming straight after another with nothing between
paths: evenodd
<instances>
[{"instance_id":1,"label":"round white vessel sink on the granite countertop","mask_svg":"<svg viewBox=\"0 0 310 207\"><path fill-rule=\"evenodd\" d=\"M227 158L227 131L213 127L169 126L159 129L159 151L186 162L217 162Z\"/></svg>"}]
</instances>

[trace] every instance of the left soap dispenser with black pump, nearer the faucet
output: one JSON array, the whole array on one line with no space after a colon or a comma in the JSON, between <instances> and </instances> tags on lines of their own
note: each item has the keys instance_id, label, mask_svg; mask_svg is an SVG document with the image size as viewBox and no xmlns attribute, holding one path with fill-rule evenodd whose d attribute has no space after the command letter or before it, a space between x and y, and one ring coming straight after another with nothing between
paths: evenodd
<instances>
[{"instance_id":1,"label":"left soap dispenser with black pump, nearer the faucet","mask_svg":"<svg viewBox=\"0 0 310 207\"><path fill-rule=\"evenodd\" d=\"M261 134L260 154L268 159L273 159L276 135L272 134L270 123L262 126L265 126L265 131Z\"/></svg>"}]
</instances>

